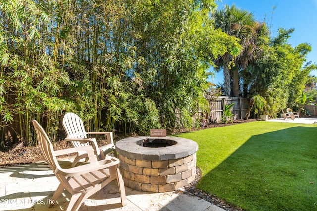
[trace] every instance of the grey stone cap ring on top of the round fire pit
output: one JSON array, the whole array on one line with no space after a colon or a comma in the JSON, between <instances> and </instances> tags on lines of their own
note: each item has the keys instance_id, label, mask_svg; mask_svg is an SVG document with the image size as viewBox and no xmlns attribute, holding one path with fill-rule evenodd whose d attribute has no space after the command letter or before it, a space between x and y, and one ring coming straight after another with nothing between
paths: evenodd
<instances>
[{"instance_id":1,"label":"grey stone cap ring on top of the round fire pit","mask_svg":"<svg viewBox=\"0 0 317 211\"><path fill-rule=\"evenodd\" d=\"M198 144L192 140L180 137L159 137L159 139L173 140L172 146L150 148L139 146L137 143L150 136L129 137L115 143L116 151L125 157L146 161L161 161L184 158L198 151Z\"/></svg>"}]
</instances>

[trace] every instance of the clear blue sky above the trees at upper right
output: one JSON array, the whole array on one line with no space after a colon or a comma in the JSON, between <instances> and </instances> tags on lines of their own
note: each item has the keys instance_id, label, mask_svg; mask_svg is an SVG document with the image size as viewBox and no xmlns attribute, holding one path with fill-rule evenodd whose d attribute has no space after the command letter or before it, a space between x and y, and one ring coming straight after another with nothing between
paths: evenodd
<instances>
[{"instance_id":1,"label":"clear blue sky above the trees at upper right","mask_svg":"<svg viewBox=\"0 0 317 211\"><path fill-rule=\"evenodd\" d=\"M268 26L272 25L271 34L276 36L278 28L294 28L288 43L293 47L300 43L308 43L312 46L312 51L307 56L307 61L317 63L317 0L222 0L217 1L218 8L223 8L225 4L252 12L256 20L263 22L266 19ZM276 6L272 14L273 6ZM317 70L311 72L317 76ZM223 82L222 71L216 73L214 79L209 81L219 84Z\"/></svg>"}]
</instances>

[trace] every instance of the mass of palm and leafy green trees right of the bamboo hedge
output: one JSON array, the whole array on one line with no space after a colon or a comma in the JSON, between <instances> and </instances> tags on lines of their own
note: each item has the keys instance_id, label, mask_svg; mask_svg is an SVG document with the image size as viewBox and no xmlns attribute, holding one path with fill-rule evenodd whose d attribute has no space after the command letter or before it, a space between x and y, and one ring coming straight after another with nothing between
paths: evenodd
<instances>
[{"instance_id":1,"label":"mass of palm and leafy green trees right of the bamboo hedge","mask_svg":"<svg viewBox=\"0 0 317 211\"><path fill-rule=\"evenodd\" d=\"M309 73L316 69L315 64L306 63L310 44L291 46L288 39L293 28L280 28L276 37L270 37L265 22L256 21L251 12L235 5L217 9L212 18L216 28L236 37L241 46L236 56L226 53L214 59L216 69L224 71L225 94L260 95L273 117L287 105L298 107Z\"/></svg>"}]
</instances>

